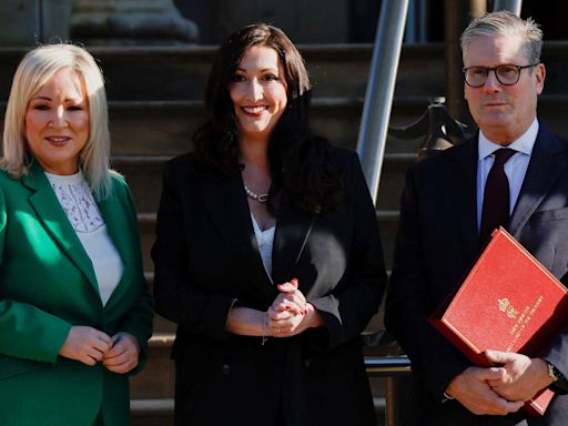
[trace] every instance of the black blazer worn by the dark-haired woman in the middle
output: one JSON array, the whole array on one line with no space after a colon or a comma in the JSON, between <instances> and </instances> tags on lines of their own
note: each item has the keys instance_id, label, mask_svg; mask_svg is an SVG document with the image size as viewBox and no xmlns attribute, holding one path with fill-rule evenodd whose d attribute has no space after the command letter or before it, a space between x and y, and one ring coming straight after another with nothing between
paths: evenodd
<instances>
[{"instance_id":1,"label":"black blazer worn by the dark-haired woman in the middle","mask_svg":"<svg viewBox=\"0 0 568 426\"><path fill-rule=\"evenodd\" d=\"M178 323L176 422L191 425L373 425L359 334L386 274L375 210L356 154L334 151L346 199L308 214L282 196L273 273L262 263L241 175L170 161L158 215L156 312ZM225 331L233 304L265 311L297 277L325 327L288 338Z\"/></svg>"}]
</instances>

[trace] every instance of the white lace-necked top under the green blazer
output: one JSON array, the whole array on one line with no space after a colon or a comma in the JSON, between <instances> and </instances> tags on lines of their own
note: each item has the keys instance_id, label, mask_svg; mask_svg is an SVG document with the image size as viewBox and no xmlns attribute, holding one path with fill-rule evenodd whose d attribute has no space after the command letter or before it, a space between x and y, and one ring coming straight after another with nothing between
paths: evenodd
<instances>
[{"instance_id":1,"label":"white lace-necked top under the green blazer","mask_svg":"<svg viewBox=\"0 0 568 426\"><path fill-rule=\"evenodd\" d=\"M45 176L91 258L101 301L105 305L122 278L124 264L106 231L91 189L81 171L72 175L45 172Z\"/></svg>"}]
</instances>

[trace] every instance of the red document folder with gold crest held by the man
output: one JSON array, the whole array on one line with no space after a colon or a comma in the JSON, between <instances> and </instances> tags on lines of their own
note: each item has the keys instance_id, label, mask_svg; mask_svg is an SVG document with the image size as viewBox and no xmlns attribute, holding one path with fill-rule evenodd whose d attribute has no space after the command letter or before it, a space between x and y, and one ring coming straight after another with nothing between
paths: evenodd
<instances>
[{"instance_id":1,"label":"red document folder with gold crest held by the man","mask_svg":"<svg viewBox=\"0 0 568 426\"><path fill-rule=\"evenodd\" d=\"M528 356L559 332L568 291L504 229L494 232L466 280L430 323L475 365L490 366L485 351ZM544 389L525 409L542 415L554 393Z\"/></svg>"}]
</instances>

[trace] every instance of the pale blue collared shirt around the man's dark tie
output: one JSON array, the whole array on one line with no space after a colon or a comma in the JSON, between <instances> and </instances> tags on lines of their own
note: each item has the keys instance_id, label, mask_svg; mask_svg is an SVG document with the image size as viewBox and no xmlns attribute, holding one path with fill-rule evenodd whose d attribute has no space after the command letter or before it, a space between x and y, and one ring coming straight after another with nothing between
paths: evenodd
<instances>
[{"instance_id":1,"label":"pale blue collared shirt around the man's dark tie","mask_svg":"<svg viewBox=\"0 0 568 426\"><path fill-rule=\"evenodd\" d=\"M481 227L481 211L484 205L485 183L487 175L495 162L494 152L501 148L510 148L517 151L503 166L507 180L509 181L509 214L513 213L517 199L519 197L520 187L527 174L528 162L532 154L532 148L538 134L538 120L535 119L528 130L508 146L501 146L487 139L479 131L479 160L477 162L477 229Z\"/></svg>"}]
</instances>

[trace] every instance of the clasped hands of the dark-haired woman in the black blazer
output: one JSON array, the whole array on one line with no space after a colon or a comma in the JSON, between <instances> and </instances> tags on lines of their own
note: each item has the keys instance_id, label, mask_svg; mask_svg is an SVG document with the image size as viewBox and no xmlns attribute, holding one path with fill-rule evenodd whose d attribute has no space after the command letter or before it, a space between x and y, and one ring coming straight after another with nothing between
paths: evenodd
<instances>
[{"instance_id":1,"label":"clasped hands of the dark-haired woman in the black blazer","mask_svg":"<svg viewBox=\"0 0 568 426\"><path fill-rule=\"evenodd\" d=\"M266 311L266 334L290 337L321 325L317 311L298 290L296 278L278 284L280 294Z\"/></svg>"}]
</instances>

